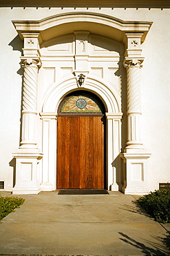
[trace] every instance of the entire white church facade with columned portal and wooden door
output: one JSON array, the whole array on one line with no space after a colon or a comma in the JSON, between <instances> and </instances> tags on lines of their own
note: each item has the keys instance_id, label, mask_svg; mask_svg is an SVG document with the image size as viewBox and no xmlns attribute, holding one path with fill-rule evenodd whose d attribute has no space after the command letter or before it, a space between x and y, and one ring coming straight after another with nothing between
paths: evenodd
<instances>
[{"instance_id":1,"label":"entire white church facade with columned portal and wooden door","mask_svg":"<svg viewBox=\"0 0 170 256\"><path fill-rule=\"evenodd\" d=\"M10 2L0 3L1 190L168 186L170 4Z\"/></svg>"}]
</instances>

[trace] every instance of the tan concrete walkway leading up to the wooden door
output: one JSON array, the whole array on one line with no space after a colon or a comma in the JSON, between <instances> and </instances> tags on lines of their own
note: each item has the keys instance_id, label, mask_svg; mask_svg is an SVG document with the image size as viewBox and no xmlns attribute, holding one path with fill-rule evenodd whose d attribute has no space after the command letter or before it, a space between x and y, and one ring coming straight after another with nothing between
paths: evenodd
<instances>
[{"instance_id":1,"label":"tan concrete walkway leading up to the wooden door","mask_svg":"<svg viewBox=\"0 0 170 256\"><path fill-rule=\"evenodd\" d=\"M0 223L0 255L170 255L168 232L134 196L109 193L18 196Z\"/></svg>"}]
</instances>

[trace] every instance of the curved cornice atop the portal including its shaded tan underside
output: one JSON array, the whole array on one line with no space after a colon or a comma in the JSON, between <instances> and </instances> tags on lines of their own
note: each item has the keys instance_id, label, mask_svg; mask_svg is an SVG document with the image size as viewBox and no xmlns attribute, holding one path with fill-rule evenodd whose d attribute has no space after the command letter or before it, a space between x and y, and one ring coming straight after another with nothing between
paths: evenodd
<instances>
[{"instance_id":1,"label":"curved cornice atop the portal including its shaded tan underside","mask_svg":"<svg viewBox=\"0 0 170 256\"><path fill-rule=\"evenodd\" d=\"M68 12L61 15L54 15L41 20L34 21L12 21L14 27L21 39L23 39L22 33L32 32L39 33L39 42L57 37L63 34L63 27L65 28L65 34L70 33L73 30L87 29L87 23L90 26L91 33L98 35L109 35L109 37L115 38L118 41L126 42L125 33L142 33L142 42L145 40L145 36L149 31L151 22L147 21L123 21L115 17L108 15L93 13L93 12ZM80 24L81 23L81 24ZM65 26L67 24L67 26ZM95 26L93 26L95 24ZM57 26L57 30L55 29ZM105 29L101 29L101 28Z\"/></svg>"}]
</instances>

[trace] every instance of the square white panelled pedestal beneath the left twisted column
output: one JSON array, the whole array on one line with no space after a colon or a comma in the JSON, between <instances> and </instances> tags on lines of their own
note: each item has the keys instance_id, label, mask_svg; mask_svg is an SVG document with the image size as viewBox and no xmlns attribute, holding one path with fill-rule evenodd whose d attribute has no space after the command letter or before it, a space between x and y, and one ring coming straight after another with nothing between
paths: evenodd
<instances>
[{"instance_id":1,"label":"square white panelled pedestal beneath the left twisted column","mask_svg":"<svg viewBox=\"0 0 170 256\"><path fill-rule=\"evenodd\" d=\"M16 184L12 194L39 194L38 164L43 154L19 152L13 156L16 158Z\"/></svg>"}]
</instances>

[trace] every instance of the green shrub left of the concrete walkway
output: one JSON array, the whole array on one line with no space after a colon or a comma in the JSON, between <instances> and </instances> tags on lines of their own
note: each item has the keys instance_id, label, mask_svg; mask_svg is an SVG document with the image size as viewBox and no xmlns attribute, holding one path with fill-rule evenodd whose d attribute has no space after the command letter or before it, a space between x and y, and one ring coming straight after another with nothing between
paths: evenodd
<instances>
[{"instance_id":1,"label":"green shrub left of the concrete walkway","mask_svg":"<svg viewBox=\"0 0 170 256\"><path fill-rule=\"evenodd\" d=\"M0 196L0 220L6 217L10 212L14 212L15 208L19 208L25 199L17 197L1 197Z\"/></svg>"}]
</instances>

